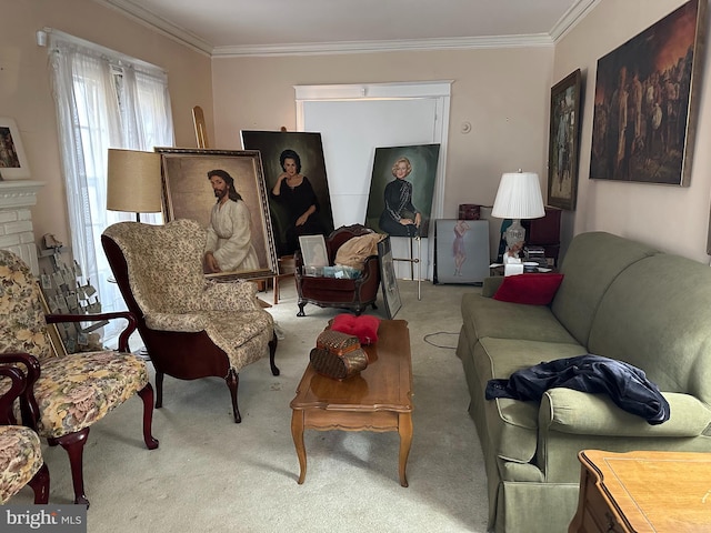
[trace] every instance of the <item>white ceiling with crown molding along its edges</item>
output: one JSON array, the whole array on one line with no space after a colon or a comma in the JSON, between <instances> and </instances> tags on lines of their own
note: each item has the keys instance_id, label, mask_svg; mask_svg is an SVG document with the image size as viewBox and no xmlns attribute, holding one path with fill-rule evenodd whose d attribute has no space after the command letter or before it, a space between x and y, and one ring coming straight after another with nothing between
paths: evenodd
<instances>
[{"instance_id":1,"label":"white ceiling with crown molding along its edges","mask_svg":"<svg viewBox=\"0 0 711 533\"><path fill-rule=\"evenodd\" d=\"M210 56L551 44L600 0L94 0Z\"/></svg>"}]
</instances>

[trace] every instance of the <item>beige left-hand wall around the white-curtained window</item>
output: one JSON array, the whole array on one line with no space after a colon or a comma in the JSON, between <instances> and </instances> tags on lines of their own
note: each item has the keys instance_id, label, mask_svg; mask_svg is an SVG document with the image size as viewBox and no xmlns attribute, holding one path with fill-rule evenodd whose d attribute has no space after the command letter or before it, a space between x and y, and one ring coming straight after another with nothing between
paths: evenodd
<instances>
[{"instance_id":1,"label":"beige left-hand wall around the white-curtained window","mask_svg":"<svg viewBox=\"0 0 711 533\"><path fill-rule=\"evenodd\" d=\"M54 28L168 71L178 145L194 147L191 109L212 114L210 58L90 0L0 0L0 117L13 118L32 172L46 185L32 209L34 233L69 243L47 48L34 33Z\"/></svg>"}]
</instances>

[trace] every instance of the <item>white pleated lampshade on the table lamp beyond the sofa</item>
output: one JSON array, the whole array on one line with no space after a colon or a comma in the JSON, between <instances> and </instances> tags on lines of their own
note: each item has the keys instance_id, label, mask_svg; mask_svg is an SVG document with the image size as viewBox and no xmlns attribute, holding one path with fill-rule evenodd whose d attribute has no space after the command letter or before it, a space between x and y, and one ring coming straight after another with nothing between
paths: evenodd
<instances>
[{"instance_id":1,"label":"white pleated lampshade on the table lamp beyond the sofa","mask_svg":"<svg viewBox=\"0 0 711 533\"><path fill-rule=\"evenodd\" d=\"M507 172L501 177L491 215L498 219L539 219L545 214L538 174Z\"/></svg>"}]
</instances>

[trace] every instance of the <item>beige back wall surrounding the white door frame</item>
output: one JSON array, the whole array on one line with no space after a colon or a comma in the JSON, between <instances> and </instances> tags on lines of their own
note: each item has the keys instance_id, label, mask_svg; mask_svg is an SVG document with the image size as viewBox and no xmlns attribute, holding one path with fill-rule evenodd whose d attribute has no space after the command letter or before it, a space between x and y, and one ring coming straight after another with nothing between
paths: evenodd
<instances>
[{"instance_id":1,"label":"beige back wall surrounding the white door frame","mask_svg":"<svg viewBox=\"0 0 711 533\"><path fill-rule=\"evenodd\" d=\"M218 58L216 143L240 148L240 130L293 131L293 86L453 80L444 213L455 218L460 203L491 205L504 171L522 168L544 180L552 58L552 47Z\"/></svg>"}]
</instances>

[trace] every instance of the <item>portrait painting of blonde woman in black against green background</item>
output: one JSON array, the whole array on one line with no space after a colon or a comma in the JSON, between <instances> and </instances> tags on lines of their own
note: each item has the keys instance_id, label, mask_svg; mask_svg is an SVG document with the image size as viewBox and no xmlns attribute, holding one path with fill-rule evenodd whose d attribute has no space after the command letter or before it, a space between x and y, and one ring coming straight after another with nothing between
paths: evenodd
<instances>
[{"instance_id":1,"label":"portrait painting of blonde woman in black against green background","mask_svg":"<svg viewBox=\"0 0 711 533\"><path fill-rule=\"evenodd\" d=\"M391 237L427 237L439 148L375 149L367 225Z\"/></svg>"}]
</instances>

